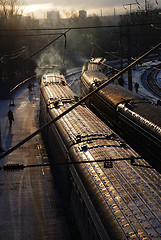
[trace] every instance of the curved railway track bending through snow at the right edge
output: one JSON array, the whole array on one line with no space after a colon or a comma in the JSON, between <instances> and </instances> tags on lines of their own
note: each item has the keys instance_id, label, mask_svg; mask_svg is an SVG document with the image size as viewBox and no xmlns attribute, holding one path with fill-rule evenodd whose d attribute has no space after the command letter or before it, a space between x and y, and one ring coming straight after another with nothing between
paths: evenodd
<instances>
[{"instance_id":1,"label":"curved railway track bending through snow at the right edge","mask_svg":"<svg viewBox=\"0 0 161 240\"><path fill-rule=\"evenodd\" d=\"M160 65L158 66L158 68L160 67ZM159 84L156 81L156 77L157 74L159 73L160 69L156 68L152 68L149 73L146 76L146 84L148 86L148 88L158 97L161 98L161 87L159 86Z\"/></svg>"}]
</instances>

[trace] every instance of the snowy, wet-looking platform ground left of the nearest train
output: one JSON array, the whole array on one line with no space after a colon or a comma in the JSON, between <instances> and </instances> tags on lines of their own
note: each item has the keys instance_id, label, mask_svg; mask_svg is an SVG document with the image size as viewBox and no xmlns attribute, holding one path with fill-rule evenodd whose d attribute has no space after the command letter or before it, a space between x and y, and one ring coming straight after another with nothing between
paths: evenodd
<instances>
[{"instance_id":1,"label":"snowy, wet-looking platform ground left of the nearest train","mask_svg":"<svg viewBox=\"0 0 161 240\"><path fill-rule=\"evenodd\" d=\"M14 95L15 106L0 101L0 145L12 148L39 128L40 86L35 83L31 94L27 85ZM7 112L14 122L9 127ZM44 164L48 157L41 135L0 160L6 164ZM20 171L0 170L0 239L70 239L65 213L50 167Z\"/></svg>"}]
</instances>

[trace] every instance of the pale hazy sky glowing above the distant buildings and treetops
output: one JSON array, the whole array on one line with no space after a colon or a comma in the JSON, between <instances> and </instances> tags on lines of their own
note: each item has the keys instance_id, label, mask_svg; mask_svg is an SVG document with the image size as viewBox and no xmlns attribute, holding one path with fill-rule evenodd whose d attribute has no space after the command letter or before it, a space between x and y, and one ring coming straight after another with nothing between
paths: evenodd
<instances>
[{"instance_id":1,"label":"pale hazy sky glowing above the distant buildings and treetops","mask_svg":"<svg viewBox=\"0 0 161 240\"><path fill-rule=\"evenodd\" d=\"M145 8L145 2L154 7L161 7L161 0L25 0L24 13L34 12L35 17L45 17L47 11L60 11L63 17L65 12L72 10L86 10L88 15L101 14L113 15L114 9L116 14L126 13L123 5L130 10L130 4L140 3L140 8ZM158 3L158 5L156 4ZM137 5L131 5L131 10L137 10Z\"/></svg>"}]
</instances>

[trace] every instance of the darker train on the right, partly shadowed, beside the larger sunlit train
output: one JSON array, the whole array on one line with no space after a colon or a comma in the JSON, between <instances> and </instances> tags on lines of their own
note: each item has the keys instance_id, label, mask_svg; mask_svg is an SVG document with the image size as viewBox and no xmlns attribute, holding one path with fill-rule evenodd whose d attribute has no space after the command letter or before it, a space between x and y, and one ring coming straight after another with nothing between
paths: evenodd
<instances>
[{"instance_id":1,"label":"darker train on the right, partly shadowed, beside the larger sunlit train","mask_svg":"<svg viewBox=\"0 0 161 240\"><path fill-rule=\"evenodd\" d=\"M99 64L84 65L82 96L106 80ZM86 103L144 158L161 168L161 106L116 84L107 85Z\"/></svg>"}]
</instances>

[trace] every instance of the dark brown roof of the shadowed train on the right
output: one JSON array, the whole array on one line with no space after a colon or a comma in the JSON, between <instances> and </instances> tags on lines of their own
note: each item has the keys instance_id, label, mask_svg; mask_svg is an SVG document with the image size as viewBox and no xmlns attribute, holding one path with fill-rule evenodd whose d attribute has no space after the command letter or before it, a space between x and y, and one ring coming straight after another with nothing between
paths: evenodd
<instances>
[{"instance_id":1,"label":"dark brown roof of the shadowed train on the right","mask_svg":"<svg viewBox=\"0 0 161 240\"><path fill-rule=\"evenodd\" d=\"M83 76L87 79L88 84L93 87L97 87L108 80L108 77L99 71L85 71ZM139 94L114 83L110 83L99 93L101 98L113 107L117 107L120 103L126 104L136 114L161 127L161 106L157 106Z\"/></svg>"}]
</instances>

